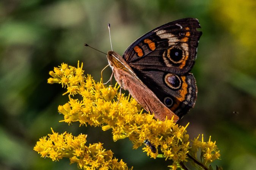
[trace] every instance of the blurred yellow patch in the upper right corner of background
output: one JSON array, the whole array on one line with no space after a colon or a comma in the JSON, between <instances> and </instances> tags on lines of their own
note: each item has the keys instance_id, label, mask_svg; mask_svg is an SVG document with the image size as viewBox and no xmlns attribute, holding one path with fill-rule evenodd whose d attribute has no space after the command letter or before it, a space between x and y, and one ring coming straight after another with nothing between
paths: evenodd
<instances>
[{"instance_id":1,"label":"blurred yellow patch in the upper right corner of background","mask_svg":"<svg viewBox=\"0 0 256 170\"><path fill-rule=\"evenodd\" d=\"M256 76L256 2L254 0L217 0L213 4L214 17L222 28L232 36L234 44L234 67Z\"/></svg>"}]
</instances>

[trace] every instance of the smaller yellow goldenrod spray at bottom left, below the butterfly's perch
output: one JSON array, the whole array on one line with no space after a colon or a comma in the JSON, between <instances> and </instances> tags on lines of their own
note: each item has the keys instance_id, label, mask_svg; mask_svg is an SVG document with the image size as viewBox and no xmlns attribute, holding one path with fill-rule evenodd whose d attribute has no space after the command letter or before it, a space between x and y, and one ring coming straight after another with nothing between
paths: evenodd
<instances>
[{"instance_id":1,"label":"smaller yellow goldenrod spray at bottom left, below the butterfly's perch","mask_svg":"<svg viewBox=\"0 0 256 170\"><path fill-rule=\"evenodd\" d=\"M69 158L71 164L77 163L78 168L85 170L128 170L127 165L118 159L113 158L111 150L105 150L101 143L86 146L85 134L77 137L71 133L48 134L39 139L34 150L41 154L41 157L51 158L52 161L59 161L62 158Z\"/></svg>"}]
</instances>

